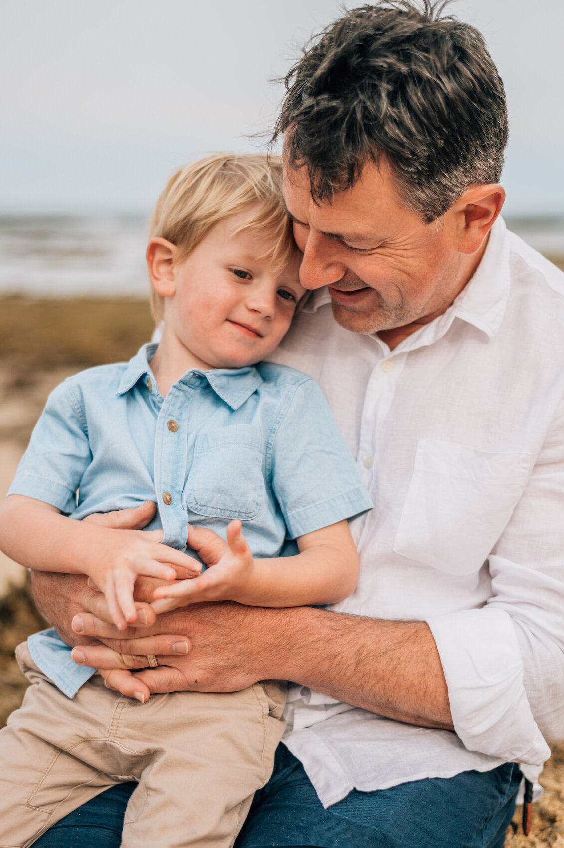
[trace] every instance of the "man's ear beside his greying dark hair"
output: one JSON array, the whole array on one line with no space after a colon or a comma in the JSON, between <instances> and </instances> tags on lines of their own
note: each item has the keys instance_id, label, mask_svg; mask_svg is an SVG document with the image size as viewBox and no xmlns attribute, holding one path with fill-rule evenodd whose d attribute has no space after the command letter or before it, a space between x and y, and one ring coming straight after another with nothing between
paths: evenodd
<instances>
[{"instance_id":1,"label":"man's ear beside his greying dark hair","mask_svg":"<svg viewBox=\"0 0 564 848\"><path fill-rule=\"evenodd\" d=\"M455 201L449 213L455 215L461 254L476 254L482 247L504 201L505 189L497 182L470 186Z\"/></svg>"}]
</instances>

